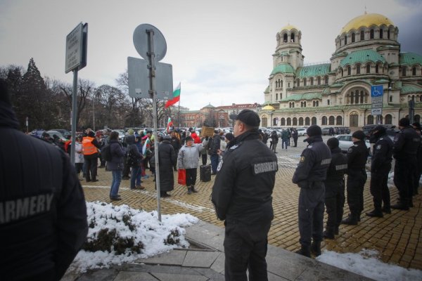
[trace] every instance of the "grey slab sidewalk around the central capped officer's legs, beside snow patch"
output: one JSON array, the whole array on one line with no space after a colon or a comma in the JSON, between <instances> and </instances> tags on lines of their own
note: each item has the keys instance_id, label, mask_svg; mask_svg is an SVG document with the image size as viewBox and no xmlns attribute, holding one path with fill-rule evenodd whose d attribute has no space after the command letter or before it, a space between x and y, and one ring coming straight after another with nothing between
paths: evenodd
<instances>
[{"instance_id":1,"label":"grey slab sidewalk around the central capped officer's legs, beside snow patch","mask_svg":"<svg viewBox=\"0 0 422 281\"><path fill-rule=\"evenodd\" d=\"M207 281L224 280L224 229L200 221L186 228L186 237L198 249L173 251L136 263L88 273L63 281ZM269 245L268 275L271 281L282 280L371 280L314 259L293 254Z\"/></svg>"}]
</instances>

